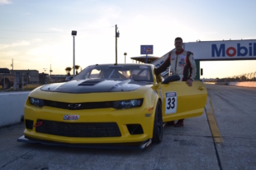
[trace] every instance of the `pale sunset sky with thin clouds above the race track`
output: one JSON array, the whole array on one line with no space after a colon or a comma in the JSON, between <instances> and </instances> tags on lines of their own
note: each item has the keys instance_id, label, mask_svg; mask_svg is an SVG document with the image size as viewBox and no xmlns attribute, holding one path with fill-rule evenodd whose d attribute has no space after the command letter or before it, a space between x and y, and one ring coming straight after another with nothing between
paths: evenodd
<instances>
[{"instance_id":1,"label":"pale sunset sky with thin clouds above the race track","mask_svg":"<svg viewBox=\"0 0 256 170\"><path fill-rule=\"evenodd\" d=\"M77 30L76 64L118 62L140 56L141 44L153 44L154 56L183 42L256 39L256 1L35 1L0 0L0 67L65 74L73 66L73 37ZM256 61L201 62L204 76L215 78L256 71Z\"/></svg>"}]
</instances>

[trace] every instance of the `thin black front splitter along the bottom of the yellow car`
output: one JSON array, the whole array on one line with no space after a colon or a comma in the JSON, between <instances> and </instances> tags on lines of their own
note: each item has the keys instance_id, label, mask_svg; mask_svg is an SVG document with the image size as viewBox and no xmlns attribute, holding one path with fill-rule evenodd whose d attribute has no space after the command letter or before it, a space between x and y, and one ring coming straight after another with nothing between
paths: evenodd
<instances>
[{"instance_id":1,"label":"thin black front splitter along the bottom of the yellow car","mask_svg":"<svg viewBox=\"0 0 256 170\"><path fill-rule=\"evenodd\" d=\"M136 143L112 143L112 144L69 144L69 143L60 143L50 140L37 140L37 139L28 139L26 136L21 136L17 139L18 142L24 142L28 144L43 144L43 145L54 145L54 146L68 146L73 148L98 148L98 149L145 149L148 147L152 140L145 140L143 142Z\"/></svg>"}]
</instances>

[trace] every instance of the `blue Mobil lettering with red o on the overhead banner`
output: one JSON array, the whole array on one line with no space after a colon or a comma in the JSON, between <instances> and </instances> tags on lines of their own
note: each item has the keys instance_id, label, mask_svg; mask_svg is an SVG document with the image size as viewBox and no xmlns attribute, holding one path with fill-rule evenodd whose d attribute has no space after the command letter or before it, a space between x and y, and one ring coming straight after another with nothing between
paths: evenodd
<instances>
[{"instance_id":1,"label":"blue Mobil lettering with red o on the overhead banner","mask_svg":"<svg viewBox=\"0 0 256 170\"><path fill-rule=\"evenodd\" d=\"M211 57L256 57L256 43L249 43L247 46L236 44L235 47L226 44L211 44Z\"/></svg>"}]
</instances>

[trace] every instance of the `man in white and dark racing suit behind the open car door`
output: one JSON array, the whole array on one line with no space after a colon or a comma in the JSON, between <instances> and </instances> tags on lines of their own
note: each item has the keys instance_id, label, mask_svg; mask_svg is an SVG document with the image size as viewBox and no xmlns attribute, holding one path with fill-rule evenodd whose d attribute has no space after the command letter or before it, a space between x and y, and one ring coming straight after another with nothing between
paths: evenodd
<instances>
[{"instance_id":1,"label":"man in white and dark racing suit behind the open car door","mask_svg":"<svg viewBox=\"0 0 256 170\"><path fill-rule=\"evenodd\" d=\"M172 75L180 76L182 81L187 81L187 85L192 86L192 81L197 75L193 53L183 49L183 39L180 37L174 40L174 46L175 49L169 53L168 58L159 68L154 69L154 73L159 75L171 65ZM174 126L184 126L183 120L178 120ZM174 124L174 122L171 123Z\"/></svg>"}]
</instances>

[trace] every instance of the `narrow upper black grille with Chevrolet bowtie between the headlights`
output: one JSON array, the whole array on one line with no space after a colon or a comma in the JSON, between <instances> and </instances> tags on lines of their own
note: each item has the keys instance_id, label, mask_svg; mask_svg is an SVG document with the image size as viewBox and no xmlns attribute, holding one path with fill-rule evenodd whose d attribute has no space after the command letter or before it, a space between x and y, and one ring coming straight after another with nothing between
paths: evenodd
<instances>
[{"instance_id":1,"label":"narrow upper black grille with Chevrolet bowtie between the headlights","mask_svg":"<svg viewBox=\"0 0 256 170\"><path fill-rule=\"evenodd\" d=\"M89 102L89 103L79 103L79 104L45 100L45 106L50 106L54 108L63 108L63 109L69 109L69 110L112 108L113 102ZM77 107L78 105L79 107Z\"/></svg>"}]
</instances>

